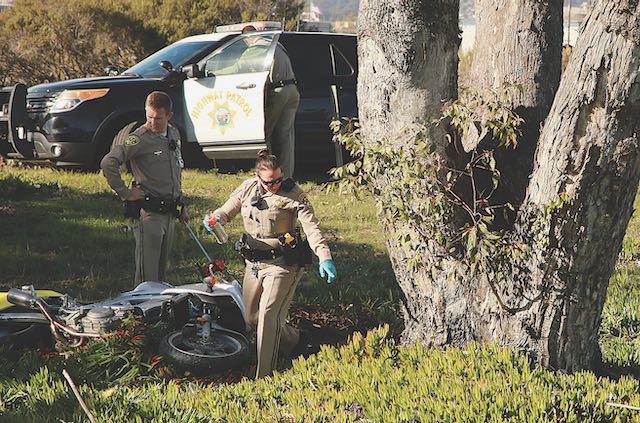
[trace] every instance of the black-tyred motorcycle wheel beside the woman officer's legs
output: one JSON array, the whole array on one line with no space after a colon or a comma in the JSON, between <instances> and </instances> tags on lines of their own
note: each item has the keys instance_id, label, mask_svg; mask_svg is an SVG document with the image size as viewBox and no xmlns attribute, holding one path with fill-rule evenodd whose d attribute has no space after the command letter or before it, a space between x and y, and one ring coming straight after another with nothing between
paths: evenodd
<instances>
[{"instance_id":1,"label":"black-tyred motorcycle wheel beside the woman officer's legs","mask_svg":"<svg viewBox=\"0 0 640 423\"><path fill-rule=\"evenodd\" d=\"M194 373L221 372L247 363L249 344L241 334L214 331L205 342L182 331L165 335L159 352L171 363Z\"/></svg>"}]
</instances>

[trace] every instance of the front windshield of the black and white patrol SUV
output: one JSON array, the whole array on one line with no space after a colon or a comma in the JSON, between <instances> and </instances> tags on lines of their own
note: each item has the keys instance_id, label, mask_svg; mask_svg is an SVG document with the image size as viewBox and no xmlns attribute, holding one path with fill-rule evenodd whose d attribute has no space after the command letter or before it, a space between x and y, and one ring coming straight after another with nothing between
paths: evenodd
<instances>
[{"instance_id":1,"label":"front windshield of the black and white patrol SUV","mask_svg":"<svg viewBox=\"0 0 640 423\"><path fill-rule=\"evenodd\" d=\"M123 72L123 75L136 74L145 78L161 78L167 74L167 71L160 67L161 60L170 61L173 67L177 69L190 63L192 59L197 59L215 43L216 41L191 41L171 44L153 53L137 65L130 67Z\"/></svg>"}]
</instances>

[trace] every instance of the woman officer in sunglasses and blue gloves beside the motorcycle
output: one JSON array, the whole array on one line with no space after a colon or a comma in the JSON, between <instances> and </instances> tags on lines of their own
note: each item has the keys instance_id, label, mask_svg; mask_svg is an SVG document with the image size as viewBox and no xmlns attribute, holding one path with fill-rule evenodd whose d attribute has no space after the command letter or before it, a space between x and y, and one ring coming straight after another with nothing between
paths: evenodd
<instances>
[{"instance_id":1,"label":"woman officer in sunglasses and blue gloves beside the motorcycle","mask_svg":"<svg viewBox=\"0 0 640 423\"><path fill-rule=\"evenodd\" d=\"M304 245L299 237L293 240L297 222L320 259L320 276L331 283L337 272L307 195L292 179L283 180L278 159L266 150L256 161L256 177L243 182L222 207L205 216L205 228L210 230L206 222L211 216L225 224L238 213L246 231L236 244L247 266L242 287L245 320L257 325L256 378L260 378L275 368L279 349L291 353L300 341L299 330L285 324L302 266L311 262L310 254L305 259L304 252L296 251ZM296 246L290 249L293 243Z\"/></svg>"}]
</instances>

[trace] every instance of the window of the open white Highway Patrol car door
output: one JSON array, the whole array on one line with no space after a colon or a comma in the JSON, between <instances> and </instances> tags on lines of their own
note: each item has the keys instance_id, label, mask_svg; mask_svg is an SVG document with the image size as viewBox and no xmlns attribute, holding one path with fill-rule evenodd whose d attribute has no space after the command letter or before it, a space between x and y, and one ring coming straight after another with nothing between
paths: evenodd
<instances>
[{"instance_id":1,"label":"window of the open white Highway Patrol car door","mask_svg":"<svg viewBox=\"0 0 640 423\"><path fill-rule=\"evenodd\" d=\"M205 76L253 73L269 70L269 49L274 34L241 37L214 52L205 62Z\"/></svg>"}]
</instances>

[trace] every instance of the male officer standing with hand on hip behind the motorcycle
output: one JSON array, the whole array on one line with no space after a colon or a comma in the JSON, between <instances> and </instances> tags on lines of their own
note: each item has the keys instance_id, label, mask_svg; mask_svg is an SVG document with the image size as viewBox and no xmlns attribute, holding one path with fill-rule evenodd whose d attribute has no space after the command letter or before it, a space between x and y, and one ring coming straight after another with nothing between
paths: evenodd
<instances>
[{"instance_id":1,"label":"male officer standing with hand on hip behind the motorcycle","mask_svg":"<svg viewBox=\"0 0 640 423\"><path fill-rule=\"evenodd\" d=\"M122 200L135 202L135 282L164 281L175 231L175 218L189 219L182 204L180 134L169 125L171 98L154 91L145 102L146 123L122 145L114 145L100 163L107 182ZM134 186L129 189L120 175L129 163Z\"/></svg>"}]
</instances>

